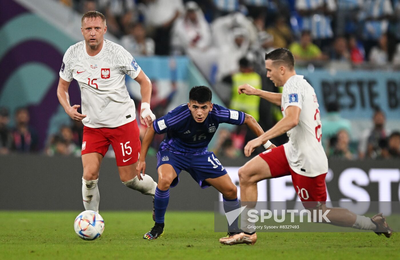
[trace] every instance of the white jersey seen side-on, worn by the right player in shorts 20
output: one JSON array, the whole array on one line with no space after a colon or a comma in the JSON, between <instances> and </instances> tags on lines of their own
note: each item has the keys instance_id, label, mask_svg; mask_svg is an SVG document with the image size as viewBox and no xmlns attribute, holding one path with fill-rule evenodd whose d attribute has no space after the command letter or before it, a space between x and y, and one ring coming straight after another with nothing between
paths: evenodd
<instances>
[{"instance_id":1,"label":"white jersey seen side-on, worn by the right player in shorts 20","mask_svg":"<svg viewBox=\"0 0 400 260\"><path fill-rule=\"evenodd\" d=\"M317 96L302 75L286 81L282 91L282 113L288 106L300 107L298 125L287 134L284 144L290 168L300 175L315 177L328 172L328 159L321 144L322 126Z\"/></svg>"}]
</instances>

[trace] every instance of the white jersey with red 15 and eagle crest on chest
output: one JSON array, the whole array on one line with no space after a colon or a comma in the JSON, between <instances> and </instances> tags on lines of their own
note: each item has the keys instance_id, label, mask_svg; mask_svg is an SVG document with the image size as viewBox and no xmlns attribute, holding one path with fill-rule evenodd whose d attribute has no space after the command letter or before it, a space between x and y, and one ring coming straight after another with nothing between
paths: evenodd
<instances>
[{"instance_id":1,"label":"white jersey with red 15 and eagle crest on chest","mask_svg":"<svg viewBox=\"0 0 400 260\"><path fill-rule=\"evenodd\" d=\"M60 77L76 79L82 98L82 123L87 127L118 127L136 118L135 104L125 86L125 74L140 73L135 59L122 46L104 40L96 56L89 56L85 42L72 45L62 59Z\"/></svg>"}]
</instances>

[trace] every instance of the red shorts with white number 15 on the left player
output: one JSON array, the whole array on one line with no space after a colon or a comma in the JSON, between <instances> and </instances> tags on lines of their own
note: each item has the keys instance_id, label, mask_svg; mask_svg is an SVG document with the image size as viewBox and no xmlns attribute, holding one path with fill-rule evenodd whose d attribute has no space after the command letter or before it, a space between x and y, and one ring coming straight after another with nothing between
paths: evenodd
<instances>
[{"instance_id":1,"label":"red shorts with white number 15 on the left player","mask_svg":"<svg viewBox=\"0 0 400 260\"><path fill-rule=\"evenodd\" d=\"M136 163L140 153L139 127L136 120L113 128L83 128L82 155L96 152L104 156L110 144L118 166Z\"/></svg>"}]
</instances>

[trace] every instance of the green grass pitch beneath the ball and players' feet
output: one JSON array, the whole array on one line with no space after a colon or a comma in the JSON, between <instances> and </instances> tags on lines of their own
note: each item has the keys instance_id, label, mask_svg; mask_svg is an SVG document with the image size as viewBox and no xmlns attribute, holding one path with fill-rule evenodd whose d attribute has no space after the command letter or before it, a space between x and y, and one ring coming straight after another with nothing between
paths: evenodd
<instances>
[{"instance_id":1,"label":"green grass pitch beneath the ball and players' feet","mask_svg":"<svg viewBox=\"0 0 400 260\"><path fill-rule=\"evenodd\" d=\"M400 259L399 239L370 233L262 233L254 246L225 246L213 212L168 212L165 234L142 238L151 212L100 212L105 230L84 241L74 232L79 212L0 211L0 259Z\"/></svg>"}]
</instances>

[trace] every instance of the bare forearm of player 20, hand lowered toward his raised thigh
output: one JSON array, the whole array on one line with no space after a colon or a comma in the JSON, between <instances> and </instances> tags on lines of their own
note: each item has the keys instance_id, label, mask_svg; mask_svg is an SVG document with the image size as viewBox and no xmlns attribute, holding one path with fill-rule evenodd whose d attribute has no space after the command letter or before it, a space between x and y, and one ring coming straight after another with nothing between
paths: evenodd
<instances>
[{"instance_id":1,"label":"bare forearm of player 20, hand lowered toward his raised thigh","mask_svg":"<svg viewBox=\"0 0 400 260\"><path fill-rule=\"evenodd\" d=\"M284 118L282 118L278 123L276 123L276 125L266 131L264 134L246 144L244 147L244 155L250 156L254 149L259 147L262 143L265 143L267 140L274 137L280 136L295 127L298 124L300 112L300 107L294 105L287 107Z\"/></svg>"}]
</instances>

